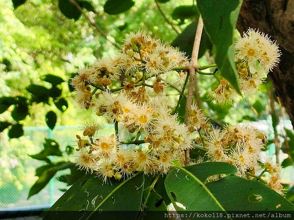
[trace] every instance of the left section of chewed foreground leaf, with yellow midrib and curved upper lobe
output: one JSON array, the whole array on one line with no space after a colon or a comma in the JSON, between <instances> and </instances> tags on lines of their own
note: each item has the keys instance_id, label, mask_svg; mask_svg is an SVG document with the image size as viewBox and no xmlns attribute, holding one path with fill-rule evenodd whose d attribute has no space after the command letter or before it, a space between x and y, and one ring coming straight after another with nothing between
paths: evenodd
<instances>
[{"instance_id":1,"label":"left section of chewed foreground leaf, with yellow midrib and curved upper lobe","mask_svg":"<svg viewBox=\"0 0 294 220\"><path fill-rule=\"evenodd\" d=\"M166 191L179 211L184 210L179 203L186 207L186 211L225 211L204 182L212 175L236 171L233 165L217 162L176 167L166 177Z\"/></svg>"}]
</instances>

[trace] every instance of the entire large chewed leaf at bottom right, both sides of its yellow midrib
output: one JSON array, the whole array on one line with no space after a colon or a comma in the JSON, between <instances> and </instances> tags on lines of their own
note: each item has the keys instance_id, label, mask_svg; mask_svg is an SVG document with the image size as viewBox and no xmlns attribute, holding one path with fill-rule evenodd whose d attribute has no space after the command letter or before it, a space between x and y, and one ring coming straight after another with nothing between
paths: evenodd
<instances>
[{"instance_id":1,"label":"entire large chewed leaf at bottom right, both sides of its yellow midrib","mask_svg":"<svg viewBox=\"0 0 294 220\"><path fill-rule=\"evenodd\" d=\"M235 166L222 162L176 167L166 177L166 191L178 211L275 211L279 204L280 211L294 210L294 205L274 190L256 180L237 177L236 171ZM205 182L220 174L227 176ZM258 201L255 195L262 199Z\"/></svg>"}]
</instances>

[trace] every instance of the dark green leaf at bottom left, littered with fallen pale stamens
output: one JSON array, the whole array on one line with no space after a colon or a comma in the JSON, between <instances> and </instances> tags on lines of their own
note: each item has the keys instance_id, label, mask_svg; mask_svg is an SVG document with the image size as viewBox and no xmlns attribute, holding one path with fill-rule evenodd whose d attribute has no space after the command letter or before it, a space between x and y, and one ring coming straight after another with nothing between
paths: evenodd
<instances>
[{"instance_id":1,"label":"dark green leaf at bottom left, littered with fallen pale stamens","mask_svg":"<svg viewBox=\"0 0 294 220\"><path fill-rule=\"evenodd\" d=\"M78 180L54 203L43 220L68 219L66 211L78 210L71 216L72 220L137 219L143 193L143 173L137 172L120 181L111 178L108 184L95 176L88 174ZM121 211L128 212L121 214Z\"/></svg>"}]
</instances>

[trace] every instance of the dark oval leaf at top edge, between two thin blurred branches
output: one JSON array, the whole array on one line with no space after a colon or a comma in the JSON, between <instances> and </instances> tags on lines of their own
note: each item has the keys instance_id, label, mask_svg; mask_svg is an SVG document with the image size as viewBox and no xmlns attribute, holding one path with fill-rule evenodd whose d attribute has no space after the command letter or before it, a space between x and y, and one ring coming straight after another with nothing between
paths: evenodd
<instances>
[{"instance_id":1,"label":"dark oval leaf at top edge, between two thin blurred branches","mask_svg":"<svg viewBox=\"0 0 294 220\"><path fill-rule=\"evenodd\" d=\"M107 0L103 6L108 14L119 14L128 11L135 4L132 0Z\"/></svg>"}]
</instances>

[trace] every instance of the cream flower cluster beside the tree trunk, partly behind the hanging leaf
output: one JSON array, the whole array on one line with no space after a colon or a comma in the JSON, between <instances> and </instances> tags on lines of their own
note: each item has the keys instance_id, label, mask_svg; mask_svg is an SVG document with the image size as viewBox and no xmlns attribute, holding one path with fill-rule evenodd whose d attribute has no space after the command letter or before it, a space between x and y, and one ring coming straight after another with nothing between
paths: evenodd
<instances>
[{"instance_id":1,"label":"cream flower cluster beside the tree trunk, partly behind the hanging leaf","mask_svg":"<svg viewBox=\"0 0 294 220\"><path fill-rule=\"evenodd\" d=\"M252 28L235 42L235 49L240 88L244 96L250 96L258 90L268 72L277 66L281 53L268 35ZM237 95L225 79L220 79L220 84L210 94L220 104L231 104Z\"/></svg>"}]
</instances>

